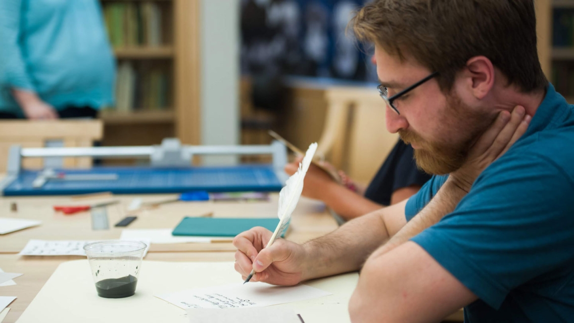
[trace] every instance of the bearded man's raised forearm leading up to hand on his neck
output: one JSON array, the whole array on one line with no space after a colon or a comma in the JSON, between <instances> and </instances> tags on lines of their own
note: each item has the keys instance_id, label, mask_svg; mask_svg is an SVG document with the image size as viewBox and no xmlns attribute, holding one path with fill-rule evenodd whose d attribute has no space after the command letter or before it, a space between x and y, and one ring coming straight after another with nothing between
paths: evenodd
<instances>
[{"instance_id":1,"label":"bearded man's raised forearm leading up to hand on his neck","mask_svg":"<svg viewBox=\"0 0 574 323\"><path fill-rule=\"evenodd\" d=\"M447 180L435 197L408 224L397 232L389 242L381 246L373 256L382 255L398 247L426 228L436 224L445 215L455 210L455 207L466 194L466 191L461 190L459 186Z\"/></svg>"}]
</instances>

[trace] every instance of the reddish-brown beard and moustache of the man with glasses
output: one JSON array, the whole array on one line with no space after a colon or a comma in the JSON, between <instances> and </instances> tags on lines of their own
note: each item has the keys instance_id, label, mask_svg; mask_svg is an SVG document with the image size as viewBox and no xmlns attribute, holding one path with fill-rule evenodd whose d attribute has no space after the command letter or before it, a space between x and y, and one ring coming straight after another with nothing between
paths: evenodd
<instances>
[{"instance_id":1,"label":"reddish-brown beard and moustache of the man with glasses","mask_svg":"<svg viewBox=\"0 0 574 323\"><path fill-rule=\"evenodd\" d=\"M452 114L453 120L457 120L457 129L452 129L451 133L452 136L462 138L460 142L429 142L412 130L398 131L402 141L406 144L415 143L419 147L414 149L414 159L417 167L428 174L444 175L458 170L466 162L472 144L492 123L492 118L472 111L456 95L448 95L445 111Z\"/></svg>"}]
</instances>

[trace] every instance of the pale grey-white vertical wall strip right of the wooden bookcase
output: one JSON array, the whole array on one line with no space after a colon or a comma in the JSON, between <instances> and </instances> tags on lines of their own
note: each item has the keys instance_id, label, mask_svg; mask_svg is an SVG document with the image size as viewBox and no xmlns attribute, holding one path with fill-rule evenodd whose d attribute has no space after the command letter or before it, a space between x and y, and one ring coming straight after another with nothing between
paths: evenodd
<instances>
[{"instance_id":1,"label":"pale grey-white vertical wall strip right of the wooden bookcase","mask_svg":"<svg viewBox=\"0 0 574 323\"><path fill-rule=\"evenodd\" d=\"M201 0L201 144L239 144L239 0ZM209 156L204 164L235 163Z\"/></svg>"}]
</instances>

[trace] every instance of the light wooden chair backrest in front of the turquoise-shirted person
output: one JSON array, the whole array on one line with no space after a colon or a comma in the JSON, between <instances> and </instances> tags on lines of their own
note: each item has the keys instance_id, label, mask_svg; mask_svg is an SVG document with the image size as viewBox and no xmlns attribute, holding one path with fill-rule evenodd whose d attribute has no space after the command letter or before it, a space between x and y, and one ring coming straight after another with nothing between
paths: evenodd
<instances>
[{"instance_id":1,"label":"light wooden chair backrest in front of the turquoise-shirted person","mask_svg":"<svg viewBox=\"0 0 574 323\"><path fill-rule=\"evenodd\" d=\"M103 123L100 120L56 121L0 121L0 172L6 171L11 145L24 148L39 147L91 147L94 140L101 140ZM25 168L42 168L42 159L25 159ZM66 168L91 167L91 158L64 158Z\"/></svg>"}]
</instances>

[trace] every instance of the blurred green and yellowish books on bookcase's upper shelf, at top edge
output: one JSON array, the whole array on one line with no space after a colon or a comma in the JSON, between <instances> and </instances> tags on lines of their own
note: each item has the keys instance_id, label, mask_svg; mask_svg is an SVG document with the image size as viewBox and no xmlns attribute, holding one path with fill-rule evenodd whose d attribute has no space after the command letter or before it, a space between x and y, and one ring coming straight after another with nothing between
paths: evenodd
<instances>
[{"instance_id":1,"label":"blurred green and yellowish books on bookcase's upper shelf, at top edge","mask_svg":"<svg viewBox=\"0 0 574 323\"><path fill-rule=\"evenodd\" d=\"M103 13L108 37L113 47L162 45L162 12L157 3L105 2Z\"/></svg>"}]
</instances>

